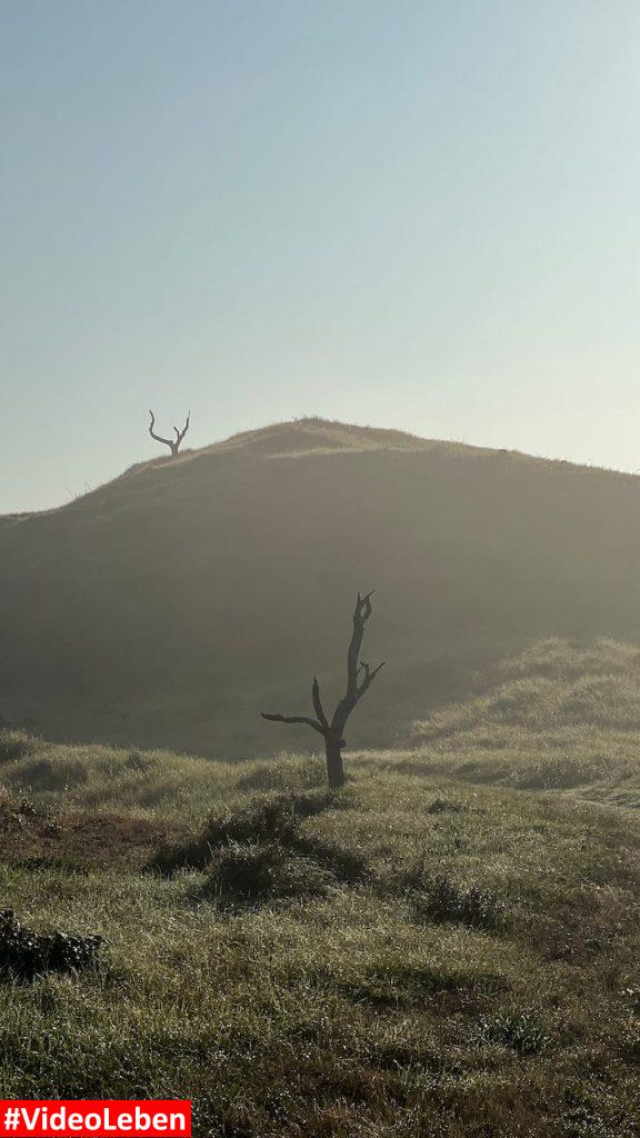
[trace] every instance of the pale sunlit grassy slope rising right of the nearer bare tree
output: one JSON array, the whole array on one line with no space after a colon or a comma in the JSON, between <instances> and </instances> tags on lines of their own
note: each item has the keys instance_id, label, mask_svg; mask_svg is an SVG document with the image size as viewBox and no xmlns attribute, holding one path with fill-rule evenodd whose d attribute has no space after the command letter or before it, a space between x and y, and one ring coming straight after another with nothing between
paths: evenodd
<instances>
[{"instance_id":1,"label":"pale sunlit grassy slope rising right of the nearer bare tree","mask_svg":"<svg viewBox=\"0 0 640 1138\"><path fill-rule=\"evenodd\" d=\"M417 720L389 767L640 806L640 650L555 638L477 679L478 694Z\"/></svg>"}]
</instances>

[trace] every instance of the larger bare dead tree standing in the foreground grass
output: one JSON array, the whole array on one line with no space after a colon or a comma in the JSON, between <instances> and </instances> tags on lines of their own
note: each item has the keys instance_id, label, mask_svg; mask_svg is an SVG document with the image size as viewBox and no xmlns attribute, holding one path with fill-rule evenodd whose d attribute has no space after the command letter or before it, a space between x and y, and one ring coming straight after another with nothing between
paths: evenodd
<instances>
[{"instance_id":1,"label":"larger bare dead tree standing in the foreground grass","mask_svg":"<svg viewBox=\"0 0 640 1138\"><path fill-rule=\"evenodd\" d=\"M313 727L314 731L318 731L323 736L327 750L327 777L329 780L329 786L334 787L344 786L342 752L343 747L346 747L346 742L343 737L346 721L356 703L364 695L364 692L374 683L374 679L385 662L383 660L383 663L379 663L377 668L371 668L368 663L364 663L364 661L360 659L360 649L362 645L362 637L364 636L364 625L372 612L372 593L367 593L366 596L360 596L360 593L358 594L355 611L353 613L353 634L346 658L346 692L334 711L331 720L329 720L325 714L322 701L320 699L320 684L318 683L317 676L313 677L313 685L311 688L311 698L313 700L313 709L318 717L317 719L304 715L269 715L266 711L262 712L263 719L272 719L276 723L305 723L309 727Z\"/></svg>"}]
</instances>

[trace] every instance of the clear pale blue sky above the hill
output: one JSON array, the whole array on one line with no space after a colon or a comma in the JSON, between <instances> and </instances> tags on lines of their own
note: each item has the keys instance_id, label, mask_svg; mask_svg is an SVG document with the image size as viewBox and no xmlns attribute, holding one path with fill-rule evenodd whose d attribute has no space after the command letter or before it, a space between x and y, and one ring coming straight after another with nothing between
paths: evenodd
<instances>
[{"instance_id":1,"label":"clear pale blue sky above the hill","mask_svg":"<svg viewBox=\"0 0 640 1138\"><path fill-rule=\"evenodd\" d=\"M149 407L635 471L639 195L638 0L0 0L0 513Z\"/></svg>"}]
</instances>

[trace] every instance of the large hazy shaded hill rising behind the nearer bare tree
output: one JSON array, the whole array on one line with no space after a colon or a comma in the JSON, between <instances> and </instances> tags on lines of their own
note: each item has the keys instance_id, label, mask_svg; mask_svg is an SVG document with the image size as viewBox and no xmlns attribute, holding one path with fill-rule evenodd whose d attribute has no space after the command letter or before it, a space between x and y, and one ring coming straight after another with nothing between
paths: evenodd
<instances>
[{"instance_id":1,"label":"large hazy shaded hill rising behind the nearer bare tree","mask_svg":"<svg viewBox=\"0 0 640 1138\"><path fill-rule=\"evenodd\" d=\"M640 480L320 420L139 464L0 525L0 714L51 737L313 747L261 710L342 684L358 588L387 667L350 725L402 740L534 640L640 641Z\"/></svg>"}]
</instances>

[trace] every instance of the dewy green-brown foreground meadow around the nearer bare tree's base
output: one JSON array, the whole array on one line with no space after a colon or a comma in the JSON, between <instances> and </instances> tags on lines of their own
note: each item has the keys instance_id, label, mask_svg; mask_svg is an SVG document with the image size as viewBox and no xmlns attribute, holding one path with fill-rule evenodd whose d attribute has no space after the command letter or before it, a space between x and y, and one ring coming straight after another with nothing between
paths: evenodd
<instances>
[{"instance_id":1,"label":"dewy green-brown foreground meadow around the nearer bare tree's base","mask_svg":"<svg viewBox=\"0 0 640 1138\"><path fill-rule=\"evenodd\" d=\"M638 1133L632 810L471 781L451 740L351 756L337 797L320 760L23 742L3 905L106 942L5 984L2 1097L188 1097L212 1138Z\"/></svg>"}]
</instances>

